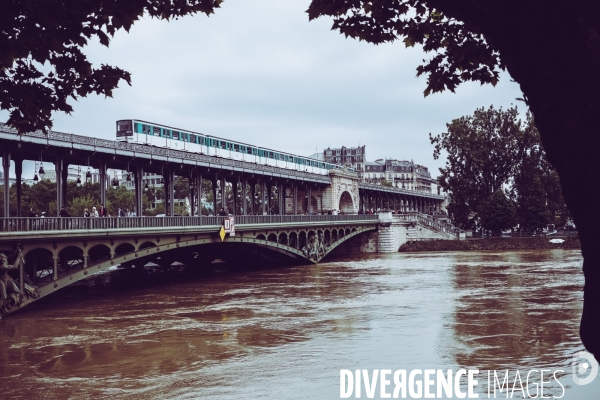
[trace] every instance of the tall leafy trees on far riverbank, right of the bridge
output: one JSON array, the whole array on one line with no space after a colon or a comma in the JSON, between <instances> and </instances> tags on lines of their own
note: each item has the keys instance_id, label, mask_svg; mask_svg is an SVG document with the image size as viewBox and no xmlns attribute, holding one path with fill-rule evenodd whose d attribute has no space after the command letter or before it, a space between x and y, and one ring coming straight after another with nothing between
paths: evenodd
<instances>
[{"instance_id":1,"label":"tall leafy trees on far riverbank, right of the bridge","mask_svg":"<svg viewBox=\"0 0 600 400\"><path fill-rule=\"evenodd\" d=\"M517 225L535 231L570 219L558 174L546 158L532 115L517 107L477 109L430 134L434 158L447 154L440 186L451 196L448 212L462 229L494 232Z\"/></svg>"}]
</instances>

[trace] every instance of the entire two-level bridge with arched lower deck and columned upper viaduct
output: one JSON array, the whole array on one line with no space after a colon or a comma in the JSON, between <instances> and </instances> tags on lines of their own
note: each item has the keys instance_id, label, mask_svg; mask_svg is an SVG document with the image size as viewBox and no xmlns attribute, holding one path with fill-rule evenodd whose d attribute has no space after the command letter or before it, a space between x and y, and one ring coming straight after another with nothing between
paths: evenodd
<instances>
[{"instance_id":1,"label":"entire two-level bridge with arched lower deck and columned upper viaduct","mask_svg":"<svg viewBox=\"0 0 600 400\"><path fill-rule=\"evenodd\" d=\"M457 238L454 227L427 215L440 209L444 196L359 182L356 174L345 170L320 175L60 132L19 136L6 125L0 125L0 146L4 188L9 187L12 160L17 191L17 209L11 212L9 190L4 190L0 252L18 268L18 277L13 278L19 284L19 293L0 304L0 316L117 265L141 269L150 262L168 266L178 261L202 267L218 259L241 265L316 263L344 243L366 252L392 252L406 240L419 237ZM131 171L138 216L22 217L24 160L54 163L58 205L67 199L69 164L99 169L102 204L107 168ZM147 171L163 176L165 217L141 215L142 176ZM232 185L234 235L220 235L224 218L229 217L194 215L193 207L192 216L174 215L176 175L189 179L191 204L203 196L202 180L209 180L215 210L219 202L221 207L226 204L226 183ZM280 215L266 215L273 209L269 195L273 189ZM330 210L342 213L329 215ZM387 211L370 213L378 210Z\"/></svg>"}]
</instances>

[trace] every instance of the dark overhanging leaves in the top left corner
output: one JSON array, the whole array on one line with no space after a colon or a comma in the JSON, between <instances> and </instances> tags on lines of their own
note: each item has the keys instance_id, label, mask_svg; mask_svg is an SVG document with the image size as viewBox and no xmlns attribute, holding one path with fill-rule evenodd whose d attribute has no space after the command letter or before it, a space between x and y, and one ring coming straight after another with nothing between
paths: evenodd
<instances>
[{"instance_id":1,"label":"dark overhanging leaves in the top left corner","mask_svg":"<svg viewBox=\"0 0 600 400\"><path fill-rule=\"evenodd\" d=\"M107 46L147 15L171 19L210 15L222 0L5 0L0 12L0 109L21 133L52 127L53 111L71 113L68 100L112 96L129 72L94 67L83 48L96 37Z\"/></svg>"}]
</instances>

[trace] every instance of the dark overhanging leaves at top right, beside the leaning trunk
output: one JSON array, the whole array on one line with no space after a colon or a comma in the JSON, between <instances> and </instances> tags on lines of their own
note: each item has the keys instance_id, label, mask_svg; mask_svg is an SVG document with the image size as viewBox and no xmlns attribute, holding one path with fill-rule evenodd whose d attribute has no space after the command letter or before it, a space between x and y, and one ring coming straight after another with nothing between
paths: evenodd
<instances>
[{"instance_id":1,"label":"dark overhanging leaves at top right, beside the leaning trunk","mask_svg":"<svg viewBox=\"0 0 600 400\"><path fill-rule=\"evenodd\" d=\"M407 47L423 46L435 55L417 68L427 75L425 96L454 89L465 81L496 85L505 68L498 51L473 27L421 0L313 0L310 19L331 16L332 29L347 37L380 44L403 38Z\"/></svg>"}]
</instances>

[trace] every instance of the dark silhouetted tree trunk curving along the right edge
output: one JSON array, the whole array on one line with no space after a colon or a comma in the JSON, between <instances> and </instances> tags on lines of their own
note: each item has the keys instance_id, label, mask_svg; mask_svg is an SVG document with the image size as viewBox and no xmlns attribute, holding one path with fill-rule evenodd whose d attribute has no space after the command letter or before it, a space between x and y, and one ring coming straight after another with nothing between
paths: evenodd
<instances>
[{"instance_id":1,"label":"dark silhouetted tree trunk curving along the right edge","mask_svg":"<svg viewBox=\"0 0 600 400\"><path fill-rule=\"evenodd\" d=\"M600 2L425 1L483 33L521 85L579 231L580 333L600 359Z\"/></svg>"}]
</instances>

